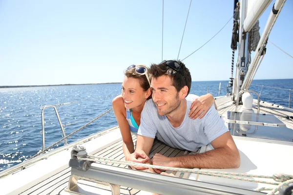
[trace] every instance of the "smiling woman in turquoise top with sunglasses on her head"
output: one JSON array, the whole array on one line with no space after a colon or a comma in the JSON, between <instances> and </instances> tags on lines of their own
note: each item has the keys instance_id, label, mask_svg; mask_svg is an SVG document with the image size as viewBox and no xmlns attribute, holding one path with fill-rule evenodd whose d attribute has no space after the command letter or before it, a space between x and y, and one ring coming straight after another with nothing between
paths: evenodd
<instances>
[{"instance_id":1,"label":"smiling woman in turquoise top with sunglasses on her head","mask_svg":"<svg viewBox=\"0 0 293 195\"><path fill-rule=\"evenodd\" d=\"M196 100L195 95L188 95L194 102L190 107L189 117L195 119L205 116L214 98L207 94ZM144 65L131 65L125 71L122 83L122 94L112 100L112 106L123 138L123 152L125 159L134 152L134 144L131 134L137 135L140 125L141 113L145 102L151 98L150 80L147 68Z\"/></svg>"}]
</instances>

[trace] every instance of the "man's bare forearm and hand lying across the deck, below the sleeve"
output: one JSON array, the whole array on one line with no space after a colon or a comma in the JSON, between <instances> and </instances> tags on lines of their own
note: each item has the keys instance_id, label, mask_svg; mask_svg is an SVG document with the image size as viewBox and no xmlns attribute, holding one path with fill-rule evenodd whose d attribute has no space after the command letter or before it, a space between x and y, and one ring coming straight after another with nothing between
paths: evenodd
<instances>
[{"instance_id":1,"label":"man's bare forearm and hand lying across the deck, below the sleeve","mask_svg":"<svg viewBox=\"0 0 293 195\"><path fill-rule=\"evenodd\" d=\"M217 137L210 144L214 150L197 155L168 158L156 154L153 164L167 167L207 169L229 169L240 166L240 155L230 132Z\"/></svg>"}]
</instances>

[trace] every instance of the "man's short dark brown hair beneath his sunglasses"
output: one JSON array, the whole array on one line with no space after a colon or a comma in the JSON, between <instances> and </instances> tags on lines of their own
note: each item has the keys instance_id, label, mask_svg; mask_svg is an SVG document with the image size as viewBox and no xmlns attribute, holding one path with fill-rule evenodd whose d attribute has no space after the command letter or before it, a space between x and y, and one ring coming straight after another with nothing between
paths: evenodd
<instances>
[{"instance_id":1,"label":"man's short dark brown hair beneath his sunglasses","mask_svg":"<svg viewBox=\"0 0 293 195\"><path fill-rule=\"evenodd\" d=\"M167 65L169 61L177 62L181 66L181 71L169 67ZM179 92L185 85L188 86L188 96L191 88L191 75L188 68L180 60L168 60L163 61L160 64L151 64L149 74L151 78L159 78L163 75L167 75L171 78L172 85L176 88L177 92Z\"/></svg>"}]
</instances>

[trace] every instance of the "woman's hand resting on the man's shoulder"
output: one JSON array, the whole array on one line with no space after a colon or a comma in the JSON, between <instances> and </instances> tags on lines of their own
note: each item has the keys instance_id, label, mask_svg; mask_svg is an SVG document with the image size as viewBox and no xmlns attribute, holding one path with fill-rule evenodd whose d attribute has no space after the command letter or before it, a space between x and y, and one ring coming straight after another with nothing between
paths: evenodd
<instances>
[{"instance_id":1,"label":"woman's hand resting on the man's shoulder","mask_svg":"<svg viewBox=\"0 0 293 195\"><path fill-rule=\"evenodd\" d=\"M204 96L196 98L189 108L190 111L188 113L188 117L190 117L191 119L196 119L197 117L199 117L199 119L201 119L206 115L210 106L213 103L214 98L210 94L206 94Z\"/></svg>"}]
</instances>

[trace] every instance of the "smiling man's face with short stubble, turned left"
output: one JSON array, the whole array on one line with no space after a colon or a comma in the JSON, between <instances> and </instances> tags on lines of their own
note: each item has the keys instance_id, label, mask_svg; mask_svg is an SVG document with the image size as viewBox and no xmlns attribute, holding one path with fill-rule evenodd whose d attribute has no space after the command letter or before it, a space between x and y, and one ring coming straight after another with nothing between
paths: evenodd
<instances>
[{"instance_id":1,"label":"smiling man's face with short stubble, turned left","mask_svg":"<svg viewBox=\"0 0 293 195\"><path fill-rule=\"evenodd\" d=\"M179 94L172 85L170 77L164 75L159 78L152 78L150 88L152 90L152 99L160 116L171 113L180 105Z\"/></svg>"}]
</instances>

